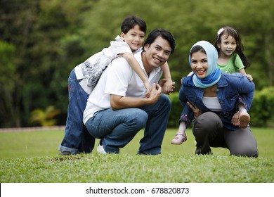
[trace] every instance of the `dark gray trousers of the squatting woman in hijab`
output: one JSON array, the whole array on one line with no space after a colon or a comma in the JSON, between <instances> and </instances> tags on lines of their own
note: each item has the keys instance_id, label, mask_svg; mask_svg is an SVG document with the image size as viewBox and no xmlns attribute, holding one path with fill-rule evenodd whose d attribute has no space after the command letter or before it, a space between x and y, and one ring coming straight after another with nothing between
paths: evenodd
<instances>
[{"instance_id":1,"label":"dark gray trousers of the squatting woman in hijab","mask_svg":"<svg viewBox=\"0 0 274 197\"><path fill-rule=\"evenodd\" d=\"M228 148L230 155L257 158L257 141L249 127L235 131L223 128L216 113L203 113L193 122L193 135L197 142L197 154L210 154L210 147Z\"/></svg>"}]
</instances>

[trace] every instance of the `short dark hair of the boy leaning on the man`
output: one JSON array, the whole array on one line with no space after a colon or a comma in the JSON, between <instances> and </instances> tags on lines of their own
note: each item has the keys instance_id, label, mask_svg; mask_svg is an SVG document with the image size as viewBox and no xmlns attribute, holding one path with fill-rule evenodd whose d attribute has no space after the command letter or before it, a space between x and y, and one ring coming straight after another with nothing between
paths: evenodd
<instances>
[{"instance_id":1,"label":"short dark hair of the boy leaning on the man","mask_svg":"<svg viewBox=\"0 0 274 197\"><path fill-rule=\"evenodd\" d=\"M124 18L123 23L121 25L121 32L126 34L135 25L138 25L141 31L145 33L147 32L147 24L145 23L145 20L143 20L142 18L138 18L135 15L129 15L126 18Z\"/></svg>"}]
</instances>

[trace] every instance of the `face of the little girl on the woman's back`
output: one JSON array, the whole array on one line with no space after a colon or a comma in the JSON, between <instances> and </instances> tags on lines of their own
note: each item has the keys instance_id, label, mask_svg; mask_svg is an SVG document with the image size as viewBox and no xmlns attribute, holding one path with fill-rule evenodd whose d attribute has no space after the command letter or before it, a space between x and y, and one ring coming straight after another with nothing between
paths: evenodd
<instances>
[{"instance_id":1,"label":"face of the little girl on the woman's back","mask_svg":"<svg viewBox=\"0 0 274 197\"><path fill-rule=\"evenodd\" d=\"M218 49L220 49L220 56L231 56L237 47L237 42L234 37L223 34L221 36L221 42L218 43Z\"/></svg>"}]
</instances>

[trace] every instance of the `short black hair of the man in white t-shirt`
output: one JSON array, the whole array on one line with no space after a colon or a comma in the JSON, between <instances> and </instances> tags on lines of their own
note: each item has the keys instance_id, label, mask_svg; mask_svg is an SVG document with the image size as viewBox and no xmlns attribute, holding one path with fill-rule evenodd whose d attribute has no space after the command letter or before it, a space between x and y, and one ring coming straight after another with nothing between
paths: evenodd
<instances>
[{"instance_id":1,"label":"short black hair of the man in white t-shirt","mask_svg":"<svg viewBox=\"0 0 274 197\"><path fill-rule=\"evenodd\" d=\"M169 42L169 45L171 47L171 53L174 52L176 42L171 32L168 32L167 30L161 30L161 29L152 30L152 32L148 34L148 38L145 39L144 46L145 44L152 44L157 37L162 37L163 39L166 39Z\"/></svg>"}]
</instances>

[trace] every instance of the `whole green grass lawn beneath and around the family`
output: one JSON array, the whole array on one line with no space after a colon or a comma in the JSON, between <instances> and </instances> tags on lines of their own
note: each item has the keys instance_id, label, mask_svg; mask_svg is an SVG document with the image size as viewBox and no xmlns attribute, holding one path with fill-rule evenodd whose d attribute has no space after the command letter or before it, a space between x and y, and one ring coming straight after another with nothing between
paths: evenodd
<instances>
[{"instance_id":1,"label":"whole green grass lawn beneath and around the family","mask_svg":"<svg viewBox=\"0 0 274 197\"><path fill-rule=\"evenodd\" d=\"M162 155L154 156L136 155L143 131L119 155L71 156L58 155L63 131L0 133L0 182L274 182L273 129L253 129L259 158L230 156L224 148L195 155L191 130L181 146L170 144L175 132L167 131Z\"/></svg>"}]
</instances>

